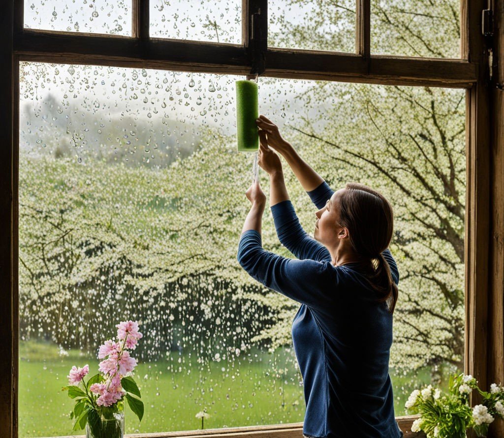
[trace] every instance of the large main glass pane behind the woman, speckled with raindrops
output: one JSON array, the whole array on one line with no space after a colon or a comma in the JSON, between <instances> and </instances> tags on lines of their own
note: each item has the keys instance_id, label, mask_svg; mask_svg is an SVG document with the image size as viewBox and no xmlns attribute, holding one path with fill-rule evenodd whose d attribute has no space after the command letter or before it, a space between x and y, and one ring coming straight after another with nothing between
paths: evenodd
<instances>
[{"instance_id":1,"label":"large main glass pane behind the woman, speckled with raindrops","mask_svg":"<svg viewBox=\"0 0 504 438\"><path fill-rule=\"evenodd\" d=\"M98 347L128 319L144 335L131 355L145 415L127 407L126 433L201 428L205 410L205 428L303 420L299 304L236 260L253 157L236 152L237 79L21 64L20 436L76 434L60 389L74 365L97 372ZM402 415L413 388L446 387L463 366L465 91L259 86L261 112L333 189L359 181L394 207ZM311 233L316 208L285 175ZM264 247L292 257L263 220Z\"/></svg>"}]
</instances>

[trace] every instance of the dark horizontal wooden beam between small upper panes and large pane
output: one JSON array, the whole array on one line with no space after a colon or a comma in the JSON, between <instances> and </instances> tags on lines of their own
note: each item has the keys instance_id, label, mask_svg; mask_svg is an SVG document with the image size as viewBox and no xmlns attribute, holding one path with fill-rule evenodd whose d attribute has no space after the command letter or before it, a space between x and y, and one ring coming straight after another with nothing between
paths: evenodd
<instances>
[{"instance_id":1,"label":"dark horizontal wooden beam between small upper panes and large pane","mask_svg":"<svg viewBox=\"0 0 504 438\"><path fill-rule=\"evenodd\" d=\"M247 75L250 53L244 46L213 42L25 30L16 35L21 60L112 65ZM409 58L269 48L266 76L365 82L386 85L470 87L477 65L460 59Z\"/></svg>"}]
</instances>

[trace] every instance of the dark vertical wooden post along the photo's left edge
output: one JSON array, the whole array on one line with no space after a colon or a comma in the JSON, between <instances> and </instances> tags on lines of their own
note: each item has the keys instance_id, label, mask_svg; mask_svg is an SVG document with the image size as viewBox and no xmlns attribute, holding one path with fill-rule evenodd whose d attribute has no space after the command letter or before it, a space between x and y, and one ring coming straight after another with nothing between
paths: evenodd
<instances>
[{"instance_id":1,"label":"dark vertical wooden post along the photo's left edge","mask_svg":"<svg viewBox=\"0 0 504 438\"><path fill-rule=\"evenodd\" d=\"M13 56L14 2L0 14L0 436L17 436L18 298L17 298L17 141L18 62Z\"/></svg>"}]
</instances>

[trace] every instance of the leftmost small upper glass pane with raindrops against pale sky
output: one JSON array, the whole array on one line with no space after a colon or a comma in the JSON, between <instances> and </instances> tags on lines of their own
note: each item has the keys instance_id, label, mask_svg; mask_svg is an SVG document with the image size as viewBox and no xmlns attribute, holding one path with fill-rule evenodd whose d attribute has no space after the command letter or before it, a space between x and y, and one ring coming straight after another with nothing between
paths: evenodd
<instances>
[{"instance_id":1,"label":"leftmost small upper glass pane with raindrops against pale sky","mask_svg":"<svg viewBox=\"0 0 504 438\"><path fill-rule=\"evenodd\" d=\"M29 29L131 36L131 0L24 0Z\"/></svg>"}]
</instances>

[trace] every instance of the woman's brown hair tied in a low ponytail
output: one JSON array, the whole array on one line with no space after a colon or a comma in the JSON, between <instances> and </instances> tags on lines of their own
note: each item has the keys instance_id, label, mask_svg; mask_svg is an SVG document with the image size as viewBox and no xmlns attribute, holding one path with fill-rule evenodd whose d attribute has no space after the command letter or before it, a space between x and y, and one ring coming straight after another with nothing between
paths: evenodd
<instances>
[{"instance_id":1,"label":"woman's brown hair tied in a low ponytail","mask_svg":"<svg viewBox=\"0 0 504 438\"><path fill-rule=\"evenodd\" d=\"M348 182L345 189L340 198L339 224L348 228L350 244L362 258L359 263L378 296L377 301L387 301L393 314L398 289L389 263L382 255L389 247L394 231L392 206L381 193L367 185Z\"/></svg>"}]
</instances>

